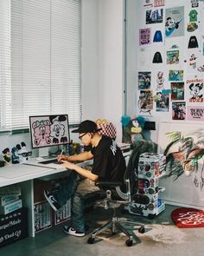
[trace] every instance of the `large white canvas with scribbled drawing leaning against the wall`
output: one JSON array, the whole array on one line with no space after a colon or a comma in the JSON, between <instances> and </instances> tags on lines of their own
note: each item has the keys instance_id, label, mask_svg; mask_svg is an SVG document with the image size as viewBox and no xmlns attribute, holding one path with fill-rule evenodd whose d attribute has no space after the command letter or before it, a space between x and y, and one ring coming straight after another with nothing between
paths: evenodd
<instances>
[{"instance_id":1,"label":"large white canvas with scribbled drawing leaning against the wall","mask_svg":"<svg viewBox=\"0 0 204 256\"><path fill-rule=\"evenodd\" d=\"M204 127L196 123L160 122L159 153L167 159L163 200L204 207Z\"/></svg>"}]
</instances>

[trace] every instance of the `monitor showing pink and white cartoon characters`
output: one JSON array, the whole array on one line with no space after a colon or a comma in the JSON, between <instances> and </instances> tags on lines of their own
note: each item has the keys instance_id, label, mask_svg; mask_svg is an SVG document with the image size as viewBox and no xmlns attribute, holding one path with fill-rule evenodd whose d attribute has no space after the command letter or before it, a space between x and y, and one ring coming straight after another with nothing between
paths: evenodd
<instances>
[{"instance_id":1,"label":"monitor showing pink and white cartoon characters","mask_svg":"<svg viewBox=\"0 0 204 256\"><path fill-rule=\"evenodd\" d=\"M68 115L29 116L32 148L65 145L70 141Z\"/></svg>"}]
</instances>

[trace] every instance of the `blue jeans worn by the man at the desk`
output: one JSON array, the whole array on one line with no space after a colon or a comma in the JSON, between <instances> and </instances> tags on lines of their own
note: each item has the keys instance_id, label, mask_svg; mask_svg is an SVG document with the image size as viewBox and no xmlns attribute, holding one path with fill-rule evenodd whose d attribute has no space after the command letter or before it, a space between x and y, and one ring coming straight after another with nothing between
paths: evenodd
<instances>
[{"instance_id":1,"label":"blue jeans worn by the man at the desk","mask_svg":"<svg viewBox=\"0 0 204 256\"><path fill-rule=\"evenodd\" d=\"M55 187L54 198L63 206L67 200L72 199L71 206L71 226L78 232L85 232L84 225L84 198L83 194L77 192L77 187L82 177L75 171L70 171L67 179L61 181L60 186Z\"/></svg>"}]
</instances>

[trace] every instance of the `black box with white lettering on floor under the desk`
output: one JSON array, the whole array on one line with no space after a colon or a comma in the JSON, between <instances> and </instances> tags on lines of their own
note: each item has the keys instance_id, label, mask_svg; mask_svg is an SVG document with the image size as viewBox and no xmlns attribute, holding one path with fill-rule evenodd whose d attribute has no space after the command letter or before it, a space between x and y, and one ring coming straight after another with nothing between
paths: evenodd
<instances>
[{"instance_id":1,"label":"black box with white lettering on floor under the desk","mask_svg":"<svg viewBox=\"0 0 204 256\"><path fill-rule=\"evenodd\" d=\"M26 237L28 237L27 208L22 207L15 212L0 215L0 247Z\"/></svg>"}]
</instances>

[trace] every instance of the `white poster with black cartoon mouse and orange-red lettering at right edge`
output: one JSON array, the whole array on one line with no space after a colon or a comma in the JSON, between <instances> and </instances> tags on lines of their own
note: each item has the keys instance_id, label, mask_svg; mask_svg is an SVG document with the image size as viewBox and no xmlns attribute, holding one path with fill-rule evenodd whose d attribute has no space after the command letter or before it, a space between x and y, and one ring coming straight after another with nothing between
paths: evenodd
<instances>
[{"instance_id":1,"label":"white poster with black cartoon mouse and orange-red lettering at right edge","mask_svg":"<svg viewBox=\"0 0 204 256\"><path fill-rule=\"evenodd\" d=\"M203 88L204 79L194 78L188 79L187 84L187 98L188 102L191 103L201 103L203 104L203 95L204 95L204 88Z\"/></svg>"}]
</instances>

